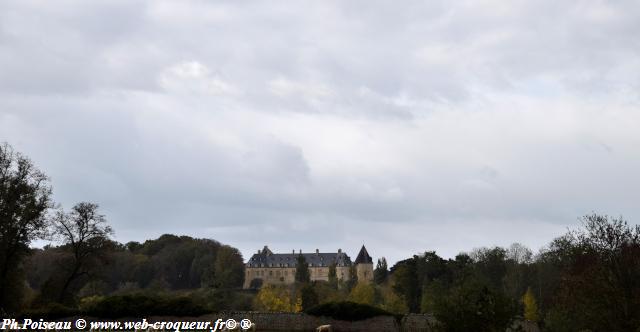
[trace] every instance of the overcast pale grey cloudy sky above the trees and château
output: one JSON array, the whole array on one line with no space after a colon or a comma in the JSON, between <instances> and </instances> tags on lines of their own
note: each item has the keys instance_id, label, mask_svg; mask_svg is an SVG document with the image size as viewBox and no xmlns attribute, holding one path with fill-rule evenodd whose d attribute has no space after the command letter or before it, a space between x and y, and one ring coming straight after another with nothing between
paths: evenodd
<instances>
[{"instance_id":1,"label":"overcast pale grey cloudy sky above the trees and ch\u00e2teau","mask_svg":"<svg viewBox=\"0 0 640 332\"><path fill-rule=\"evenodd\" d=\"M390 264L640 220L638 1L0 1L0 141L121 242Z\"/></svg>"}]
</instances>

